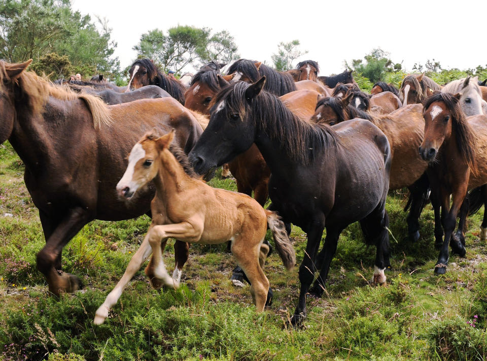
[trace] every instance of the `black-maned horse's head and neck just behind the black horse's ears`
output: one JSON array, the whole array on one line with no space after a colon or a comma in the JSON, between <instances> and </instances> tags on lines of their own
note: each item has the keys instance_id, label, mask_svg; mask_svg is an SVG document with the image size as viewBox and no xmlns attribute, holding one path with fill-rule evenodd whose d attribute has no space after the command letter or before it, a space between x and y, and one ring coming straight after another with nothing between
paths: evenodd
<instances>
[{"instance_id":1,"label":"black-maned horse's head and neck just behind the black horse's ears","mask_svg":"<svg viewBox=\"0 0 487 361\"><path fill-rule=\"evenodd\" d=\"M294 79L288 73L278 72L259 61L238 59L230 65L227 75L235 73L232 81L255 82L265 76L265 90L277 96L297 90Z\"/></svg>"}]
</instances>

